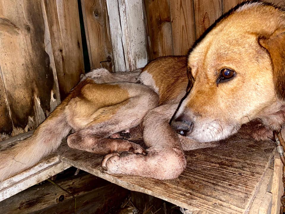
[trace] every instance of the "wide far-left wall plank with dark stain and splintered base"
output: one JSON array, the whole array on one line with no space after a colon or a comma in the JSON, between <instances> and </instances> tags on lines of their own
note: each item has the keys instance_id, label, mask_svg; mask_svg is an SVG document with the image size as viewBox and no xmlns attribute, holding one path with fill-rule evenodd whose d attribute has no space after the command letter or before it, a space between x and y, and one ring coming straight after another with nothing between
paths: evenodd
<instances>
[{"instance_id":1,"label":"wide far-left wall plank with dark stain and splintered base","mask_svg":"<svg viewBox=\"0 0 285 214\"><path fill-rule=\"evenodd\" d=\"M3 0L0 17L0 66L13 123L12 134L9 128L7 134L15 136L36 128L59 93L45 50L41 2Z\"/></svg>"}]
</instances>

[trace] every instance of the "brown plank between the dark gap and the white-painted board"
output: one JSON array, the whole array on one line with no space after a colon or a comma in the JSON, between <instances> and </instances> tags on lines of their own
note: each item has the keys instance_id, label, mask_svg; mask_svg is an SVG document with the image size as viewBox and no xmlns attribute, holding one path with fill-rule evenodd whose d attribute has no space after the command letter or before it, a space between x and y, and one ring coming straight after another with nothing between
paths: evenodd
<instances>
[{"instance_id":1,"label":"brown plank between the dark gap and the white-painted board","mask_svg":"<svg viewBox=\"0 0 285 214\"><path fill-rule=\"evenodd\" d=\"M113 58L107 5L104 0L81 0L81 5L90 66L95 69L101 61ZM106 68L112 71L109 64Z\"/></svg>"}]
</instances>

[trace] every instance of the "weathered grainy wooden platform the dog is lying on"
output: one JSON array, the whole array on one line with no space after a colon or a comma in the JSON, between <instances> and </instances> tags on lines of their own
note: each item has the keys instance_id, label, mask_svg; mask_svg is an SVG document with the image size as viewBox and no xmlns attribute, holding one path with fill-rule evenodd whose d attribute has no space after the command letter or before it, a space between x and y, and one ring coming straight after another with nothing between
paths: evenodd
<instances>
[{"instance_id":1,"label":"weathered grainy wooden platform the dog is lying on","mask_svg":"<svg viewBox=\"0 0 285 214\"><path fill-rule=\"evenodd\" d=\"M102 155L73 150L66 141L52 157L57 156L67 164L63 168L75 166L126 189L147 193L190 211L228 214L250 212L263 179L268 177L266 171L272 164L273 149L272 141L257 143L233 137L221 142L219 147L186 152L186 170L178 179L166 181L102 173Z\"/></svg>"}]
</instances>

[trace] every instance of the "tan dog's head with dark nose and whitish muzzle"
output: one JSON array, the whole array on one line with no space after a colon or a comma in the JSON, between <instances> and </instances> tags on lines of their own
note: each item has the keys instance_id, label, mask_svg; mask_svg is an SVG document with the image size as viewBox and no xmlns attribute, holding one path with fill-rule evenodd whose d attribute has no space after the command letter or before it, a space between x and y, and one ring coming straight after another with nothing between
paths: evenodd
<instances>
[{"instance_id":1,"label":"tan dog's head with dark nose and whitish muzzle","mask_svg":"<svg viewBox=\"0 0 285 214\"><path fill-rule=\"evenodd\" d=\"M192 89L172 120L178 133L207 142L252 119L280 128L285 101L285 12L248 2L222 18L193 48ZM283 113L284 117L284 113Z\"/></svg>"}]
</instances>

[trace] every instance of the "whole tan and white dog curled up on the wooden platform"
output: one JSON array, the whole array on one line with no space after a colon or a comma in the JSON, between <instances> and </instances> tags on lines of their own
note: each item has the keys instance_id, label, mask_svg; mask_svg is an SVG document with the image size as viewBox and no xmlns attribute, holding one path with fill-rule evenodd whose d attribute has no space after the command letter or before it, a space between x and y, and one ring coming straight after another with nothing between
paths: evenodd
<instances>
[{"instance_id":1,"label":"whole tan and white dog curled up on the wooden platform","mask_svg":"<svg viewBox=\"0 0 285 214\"><path fill-rule=\"evenodd\" d=\"M176 178L186 167L183 150L216 146L255 119L265 138L281 129L284 60L285 12L244 2L216 21L188 56L156 59L141 72L86 74L30 138L0 153L0 180L56 150L70 130L69 147L107 154L106 173ZM146 151L109 138L140 123Z\"/></svg>"}]
</instances>

